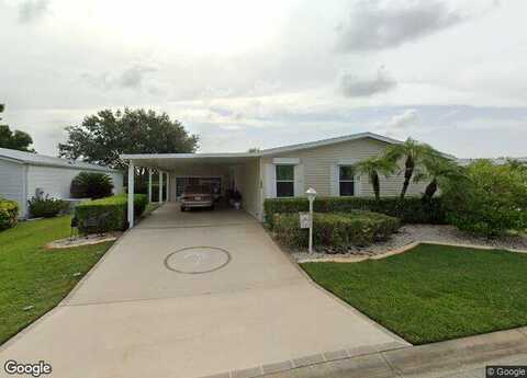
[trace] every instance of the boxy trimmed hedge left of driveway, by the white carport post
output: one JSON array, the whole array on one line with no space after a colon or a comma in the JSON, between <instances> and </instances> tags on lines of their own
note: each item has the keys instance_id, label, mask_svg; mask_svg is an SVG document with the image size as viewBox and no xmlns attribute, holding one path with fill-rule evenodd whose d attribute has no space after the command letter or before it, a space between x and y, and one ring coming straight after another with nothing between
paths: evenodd
<instances>
[{"instance_id":1,"label":"boxy trimmed hedge left of driveway, by the white carport post","mask_svg":"<svg viewBox=\"0 0 527 378\"><path fill-rule=\"evenodd\" d=\"M125 194L80 203L75 207L75 219L79 231L83 233L93 233L125 230L128 226L127 203L128 197ZM139 217L145 211L147 204L148 198L146 195L134 195L135 218ZM86 219L104 215L104 222L100 227L85 227Z\"/></svg>"}]
</instances>

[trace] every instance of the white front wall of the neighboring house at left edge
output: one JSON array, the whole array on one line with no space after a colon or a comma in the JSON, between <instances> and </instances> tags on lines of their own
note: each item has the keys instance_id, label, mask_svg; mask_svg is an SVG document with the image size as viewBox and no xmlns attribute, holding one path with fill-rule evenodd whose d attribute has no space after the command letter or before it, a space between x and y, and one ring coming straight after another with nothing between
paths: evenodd
<instances>
[{"instance_id":1,"label":"white front wall of the neighboring house at left edge","mask_svg":"<svg viewBox=\"0 0 527 378\"><path fill-rule=\"evenodd\" d=\"M21 217L25 213L24 170L24 164L0 160L0 197L16 201Z\"/></svg>"}]
</instances>

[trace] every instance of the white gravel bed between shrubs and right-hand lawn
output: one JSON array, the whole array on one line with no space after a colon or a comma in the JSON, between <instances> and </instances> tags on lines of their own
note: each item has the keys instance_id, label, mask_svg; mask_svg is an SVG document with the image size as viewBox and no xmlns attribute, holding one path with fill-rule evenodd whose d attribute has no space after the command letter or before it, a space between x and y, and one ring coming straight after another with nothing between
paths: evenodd
<instances>
[{"instance_id":1,"label":"white gravel bed between shrubs and right-hand lawn","mask_svg":"<svg viewBox=\"0 0 527 378\"><path fill-rule=\"evenodd\" d=\"M500 239L476 238L459 231L453 226L434 226L434 225L406 225L401 227L399 232L394 233L389 240L378 242L372 245L359 248L355 247L345 253L338 253L339 256L372 256L383 254L413 242L438 242L468 244L474 247L492 247L497 249L515 249L527 251L527 236L509 236ZM330 249L316 251L312 254L301 251L290 251L295 260L326 259L329 254L335 255Z\"/></svg>"}]
</instances>

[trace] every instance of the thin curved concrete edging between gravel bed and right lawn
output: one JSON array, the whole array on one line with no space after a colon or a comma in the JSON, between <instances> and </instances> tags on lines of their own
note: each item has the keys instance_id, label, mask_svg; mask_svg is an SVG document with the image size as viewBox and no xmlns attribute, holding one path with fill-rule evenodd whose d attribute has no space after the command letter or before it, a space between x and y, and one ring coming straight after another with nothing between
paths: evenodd
<instances>
[{"instance_id":1,"label":"thin curved concrete edging between gravel bed and right lawn","mask_svg":"<svg viewBox=\"0 0 527 378\"><path fill-rule=\"evenodd\" d=\"M395 254L400 254L403 252L406 252L408 250L412 250L413 248L421 245L421 244L437 244L437 245L447 245L447 247L459 247L459 248L472 248L476 250L501 250L501 251L507 251L507 252L514 252L514 253L527 253L526 250L517 250L517 249L509 249L509 248L497 248L497 247L490 247L490 245L481 245L481 244L461 244L461 243L447 243L447 242L439 242L439 241L433 241L433 240L421 240L421 241L414 241L412 243L408 243L406 245L403 245L401 248L397 248L395 250L390 250L385 253L382 254L377 254L373 256L335 256L335 257L323 257L323 259L302 259L299 260L299 264L303 263L360 263L362 261L367 260L381 260L385 257L393 256Z\"/></svg>"}]
</instances>

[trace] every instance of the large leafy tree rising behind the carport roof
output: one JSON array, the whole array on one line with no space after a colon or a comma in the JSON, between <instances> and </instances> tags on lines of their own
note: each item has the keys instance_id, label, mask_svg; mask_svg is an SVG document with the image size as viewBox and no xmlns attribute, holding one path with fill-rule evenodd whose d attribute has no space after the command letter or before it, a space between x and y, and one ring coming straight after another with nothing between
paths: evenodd
<instances>
[{"instance_id":1,"label":"large leafy tree rising behind the carport roof","mask_svg":"<svg viewBox=\"0 0 527 378\"><path fill-rule=\"evenodd\" d=\"M104 110L66 131L68 140L58 145L60 157L115 169L126 165L122 153L194 152L199 141L179 121L143 108Z\"/></svg>"}]
</instances>

